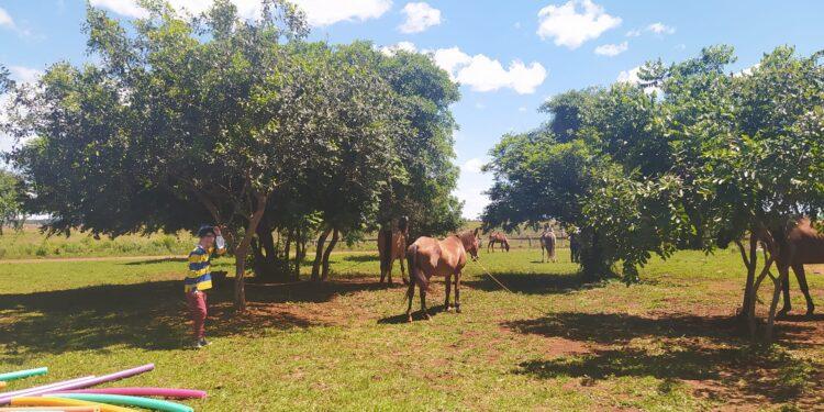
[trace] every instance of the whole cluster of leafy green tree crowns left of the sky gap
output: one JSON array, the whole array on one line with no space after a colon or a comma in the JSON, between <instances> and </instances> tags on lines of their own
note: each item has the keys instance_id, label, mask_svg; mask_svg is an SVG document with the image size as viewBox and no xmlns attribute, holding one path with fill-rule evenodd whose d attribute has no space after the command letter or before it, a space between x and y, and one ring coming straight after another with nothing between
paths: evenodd
<instances>
[{"instance_id":1,"label":"whole cluster of leafy green tree crowns left of the sky gap","mask_svg":"<svg viewBox=\"0 0 824 412\"><path fill-rule=\"evenodd\" d=\"M275 258L272 230L305 245L399 214L456 226L459 96L431 58L305 42L302 12L278 0L255 20L225 0L196 16L144 5L131 26L88 7L96 63L57 63L15 90L7 130L34 138L10 157L51 231L224 225L243 309L246 258Z\"/></svg>"}]
</instances>

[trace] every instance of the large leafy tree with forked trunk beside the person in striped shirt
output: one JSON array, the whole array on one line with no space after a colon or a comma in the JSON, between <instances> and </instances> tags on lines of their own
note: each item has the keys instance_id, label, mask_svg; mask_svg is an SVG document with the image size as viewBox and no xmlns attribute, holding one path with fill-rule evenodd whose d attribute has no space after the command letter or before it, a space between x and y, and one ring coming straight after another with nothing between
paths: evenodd
<instances>
[{"instance_id":1,"label":"large leafy tree with forked trunk beside the person in striped shirt","mask_svg":"<svg viewBox=\"0 0 824 412\"><path fill-rule=\"evenodd\" d=\"M226 225L243 310L248 248L280 189L329 186L352 157L365 183L386 180L391 96L369 67L302 45L287 3L254 21L227 1L194 19L147 7L132 29L88 9L100 63L57 64L21 99L15 126L37 137L12 158L54 231Z\"/></svg>"}]
</instances>

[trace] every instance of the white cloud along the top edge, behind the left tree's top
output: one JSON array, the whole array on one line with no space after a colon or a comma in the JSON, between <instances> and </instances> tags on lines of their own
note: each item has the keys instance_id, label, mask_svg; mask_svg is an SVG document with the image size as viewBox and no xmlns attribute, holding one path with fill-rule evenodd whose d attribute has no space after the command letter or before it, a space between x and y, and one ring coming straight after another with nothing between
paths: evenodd
<instances>
[{"instance_id":1,"label":"white cloud along the top edge, behind the left tree's top","mask_svg":"<svg viewBox=\"0 0 824 412\"><path fill-rule=\"evenodd\" d=\"M186 10L198 14L208 10L212 2L203 0L168 0L178 11ZM260 13L260 0L232 0L244 19L254 19ZM392 5L391 0L294 0L307 12L307 20L313 26L324 26L342 21L364 21L377 19ZM137 0L91 0L91 5L111 10L130 18L146 16L146 11L137 5Z\"/></svg>"}]
</instances>

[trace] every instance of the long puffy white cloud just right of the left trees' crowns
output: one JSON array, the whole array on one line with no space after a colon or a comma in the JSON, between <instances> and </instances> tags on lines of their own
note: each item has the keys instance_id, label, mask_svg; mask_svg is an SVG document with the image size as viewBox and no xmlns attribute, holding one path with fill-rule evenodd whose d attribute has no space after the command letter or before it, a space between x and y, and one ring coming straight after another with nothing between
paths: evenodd
<instances>
[{"instance_id":1,"label":"long puffy white cloud just right of the left trees' crowns","mask_svg":"<svg viewBox=\"0 0 824 412\"><path fill-rule=\"evenodd\" d=\"M537 62L528 66L512 60L508 68L499 60L482 54L469 56L458 47L441 48L434 53L435 64L449 73L449 77L475 91L494 91L510 88L519 94L530 94L546 79L546 69Z\"/></svg>"}]
</instances>

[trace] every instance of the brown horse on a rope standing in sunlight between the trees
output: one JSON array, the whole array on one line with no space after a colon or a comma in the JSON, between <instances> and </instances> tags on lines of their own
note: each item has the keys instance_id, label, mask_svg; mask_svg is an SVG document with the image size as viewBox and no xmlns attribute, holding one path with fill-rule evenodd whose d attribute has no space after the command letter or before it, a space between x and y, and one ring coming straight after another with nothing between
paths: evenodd
<instances>
[{"instance_id":1,"label":"brown horse on a rope standing in sunlight between the trees","mask_svg":"<svg viewBox=\"0 0 824 412\"><path fill-rule=\"evenodd\" d=\"M466 266L467 254L478 258L478 229L454 234L443 241L433 237L419 237L407 249L410 282L407 291L409 307L407 319L412 322L412 299L415 296L415 285L421 291L421 312L424 319L430 319L426 312L426 291L430 289L430 278L443 276L446 278L446 300L444 309L449 305L449 289L452 277L455 276L455 311L460 313L460 271Z\"/></svg>"}]
</instances>

